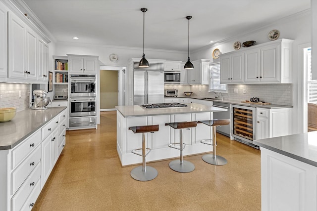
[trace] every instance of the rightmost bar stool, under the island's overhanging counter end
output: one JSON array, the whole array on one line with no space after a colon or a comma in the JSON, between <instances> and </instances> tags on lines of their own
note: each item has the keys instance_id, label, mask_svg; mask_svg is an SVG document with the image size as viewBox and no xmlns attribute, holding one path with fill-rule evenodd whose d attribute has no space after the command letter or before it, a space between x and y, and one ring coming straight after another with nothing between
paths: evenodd
<instances>
[{"instance_id":1,"label":"rightmost bar stool, under the island's overhanging counter end","mask_svg":"<svg viewBox=\"0 0 317 211\"><path fill-rule=\"evenodd\" d=\"M230 124L230 119L225 119L225 120L206 120L206 121L198 121L197 123L203 123L205 125L208 125L210 127L212 127L212 131L213 131L213 138L212 139L204 139L201 140L200 142L203 144L208 144L208 145L212 145L212 155L211 154L207 154L203 156L203 160L206 163L212 164L212 165L216 165L216 166L222 166L222 165L226 165L228 163L228 161L221 157L221 156L216 156L216 127L217 126L223 126L223 125L229 125ZM207 141L212 143L208 143Z\"/></svg>"}]
</instances>

